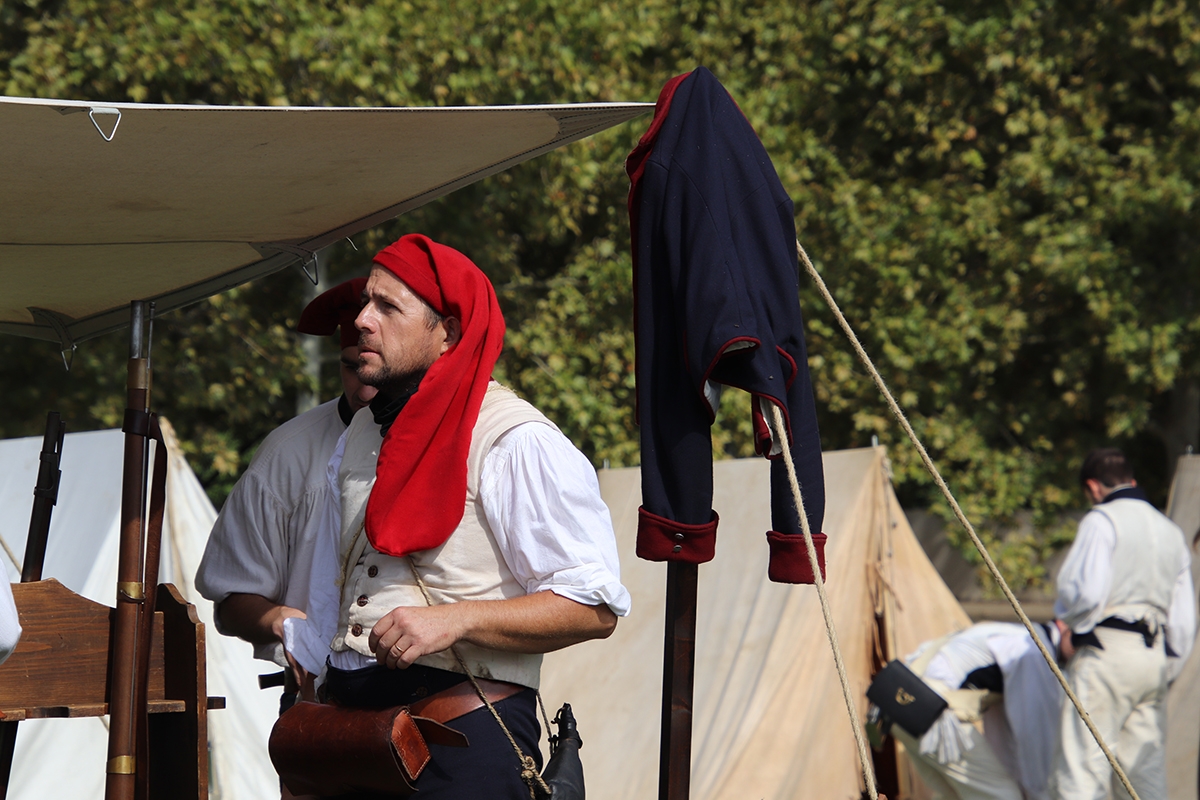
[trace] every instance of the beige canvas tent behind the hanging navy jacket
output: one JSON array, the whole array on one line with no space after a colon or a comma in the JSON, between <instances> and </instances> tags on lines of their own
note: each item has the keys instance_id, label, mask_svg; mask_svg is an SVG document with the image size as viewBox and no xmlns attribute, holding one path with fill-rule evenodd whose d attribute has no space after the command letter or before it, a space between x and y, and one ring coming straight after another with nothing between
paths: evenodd
<instances>
[{"instance_id":1,"label":"beige canvas tent behind the hanging navy jacket","mask_svg":"<svg viewBox=\"0 0 1200 800\"><path fill-rule=\"evenodd\" d=\"M913 537L884 450L826 453L824 468L829 601L862 714L876 654L902 656L970 619ZM691 796L857 800L858 757L816 591L767 581L769 464L713 471L721 524L716 558L700 570ZM546 704L570 702L578 717L592 800L658 792L666 569L634 554L640 481L636 468L600 473L632 614L606 640L547 655L542 669ZM890 622L882 637L880 619Z\"/></svg>"}]
</instances>

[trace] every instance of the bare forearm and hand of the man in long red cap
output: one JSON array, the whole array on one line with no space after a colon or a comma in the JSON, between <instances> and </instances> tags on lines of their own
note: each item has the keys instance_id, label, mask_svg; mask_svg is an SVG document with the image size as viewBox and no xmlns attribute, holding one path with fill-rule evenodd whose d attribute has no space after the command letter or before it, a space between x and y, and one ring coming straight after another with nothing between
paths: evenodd
<instances>
[{"instance_id":1,"label":"bare forearm and hand of the man in long red cap","mask_svg":"<svg viewBox=\"0 0 1200 800\"><path fill-rule=\"evenodd\" d=\"M617 615L607 606L584 606L539 591L509 600L394 608L376 622L367 644L379 663L395 669L456 642L508 652L550 652L606 638L616 627Z\"/></svg>"}]
</instances>

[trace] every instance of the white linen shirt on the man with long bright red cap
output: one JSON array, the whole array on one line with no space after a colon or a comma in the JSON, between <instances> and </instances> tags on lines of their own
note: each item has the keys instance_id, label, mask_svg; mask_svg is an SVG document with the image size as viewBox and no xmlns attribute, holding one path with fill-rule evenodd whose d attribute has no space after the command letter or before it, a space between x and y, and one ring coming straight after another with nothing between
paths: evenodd
<instances>
[{"instance_id":1,"label":"white linen shirt on the man with long bright red cap","mask_svg":"<svg viewBox=\"0 0 1200 800\"><path fill-rule=\"evenodd\" d=\"M337 473L344 452L346 434L326 470L330 503L313 558L307 619L284 621L288 652L311 673L319 673L326 658L340 669L377 663L353 650L329 648L341 606ZM587 606L604 603L618 616L629 614L631 600L620 583L617 540L600 483L592 464L565 435L539 422L514 427L484 459L479 486L500 555L528 594L553 591Z\"/></svg>"}]
</instances>

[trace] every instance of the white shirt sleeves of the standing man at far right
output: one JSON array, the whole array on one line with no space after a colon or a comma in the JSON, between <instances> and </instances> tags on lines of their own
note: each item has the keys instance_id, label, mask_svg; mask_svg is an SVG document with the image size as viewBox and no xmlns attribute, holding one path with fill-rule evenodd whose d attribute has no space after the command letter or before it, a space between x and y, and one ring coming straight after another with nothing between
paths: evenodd
<instances>
[{"instance_id":1,"label":"white shirt sleeves of the standing man at far right","mask_svg":"<svg viewBox=\"0 0 1200 800\"><path fill-rule=\"evenodd\" d=\"M1087 633L1108 616L1105 608L1112 587L1112 553L1116 546L1117 530L1112 521L1099 511L1087 512L1079 523L1075 543L1058 570L1058 599L1054 604L1055 616L1075 633ZM1176 654L1168 661L1172 680L1183 669L1195 642L1194 603L1192 564L1186 563L1171 590L1171 606L1166 614L1166 642Z\"/></svg>"}]
</instances>

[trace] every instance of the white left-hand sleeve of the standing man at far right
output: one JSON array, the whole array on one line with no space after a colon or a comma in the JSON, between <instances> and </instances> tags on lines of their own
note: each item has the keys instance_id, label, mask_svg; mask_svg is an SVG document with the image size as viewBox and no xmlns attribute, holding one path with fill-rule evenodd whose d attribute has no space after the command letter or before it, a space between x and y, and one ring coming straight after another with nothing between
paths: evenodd
<instances>
[{"instance_id":1,"label":"white left-hand sleeve of the standing man at far right","mask_svg":"<svg viewBox=\"0 0 1200 800\"><path fill-rule=\"evenodd\" d=\"M1054 604L1055 616L1075 633L1087 633L1104 619L1116 547L1116 528L1103 513L1091 511L1080 521L1075 543L1058 571Z\"/></svg>"}]
</instances>

